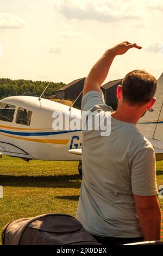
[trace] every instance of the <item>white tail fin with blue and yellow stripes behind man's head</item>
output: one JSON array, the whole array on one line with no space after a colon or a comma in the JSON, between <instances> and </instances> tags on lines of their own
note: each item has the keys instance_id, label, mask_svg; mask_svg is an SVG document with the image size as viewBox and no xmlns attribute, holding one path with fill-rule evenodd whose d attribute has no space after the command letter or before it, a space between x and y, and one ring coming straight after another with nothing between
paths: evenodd
<instances>
[{"instance_id":1,"label":"white tail fin with blue and yellow stripes behind man's head","mask_svg":"<svg viewBox=\"0 0 163 256\"><path fill-rule=\"evenodd\" d=\"M163 141L163 73L158 79L158 88L155 93L156 102L152 109L137 123L137 128L148 139Z\"/></svg>"}]
</instances>

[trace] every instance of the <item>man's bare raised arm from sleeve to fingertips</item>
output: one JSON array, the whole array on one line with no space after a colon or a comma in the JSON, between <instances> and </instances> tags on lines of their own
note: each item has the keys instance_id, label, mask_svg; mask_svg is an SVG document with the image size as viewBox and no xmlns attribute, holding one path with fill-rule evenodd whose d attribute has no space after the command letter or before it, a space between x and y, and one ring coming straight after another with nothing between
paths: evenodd
<instances>
[{"instance_id":1,"label":"man's bare raised arm from sleeve to fingertips","mask_svg":"<svg viewBox=\"0 0 163 256\"><path fill-rule=\"evenodd\" d=\"M126 53L130 48L141 49L142 47L125 41L110 48L103 54L101 59L99 59L98 62L93 66L85 80L83 96L91 90L97 90L98 92L102 93L100 87L108 75L111 63L115 56Z\"/></svg>"}]
</instances>

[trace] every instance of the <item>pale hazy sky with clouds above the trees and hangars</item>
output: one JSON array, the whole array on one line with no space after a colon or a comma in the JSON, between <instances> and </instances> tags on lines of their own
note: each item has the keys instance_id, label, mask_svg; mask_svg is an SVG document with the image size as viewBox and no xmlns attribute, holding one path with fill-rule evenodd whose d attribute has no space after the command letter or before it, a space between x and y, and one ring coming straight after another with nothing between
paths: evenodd
<instances>
[{"instance_id":1,"label":"pale hazy sky with clouds above the trees and hangars","mask_svg":"<svg viewBox=\"0 0 163 256\"><path fill-rule=\"evenodd\" d=\"M70 83L122 42L105 82L163 72L162 0L0 0L0 77ZM104 82L104 83L105 83Z\"/></svg>"}]
</instances>

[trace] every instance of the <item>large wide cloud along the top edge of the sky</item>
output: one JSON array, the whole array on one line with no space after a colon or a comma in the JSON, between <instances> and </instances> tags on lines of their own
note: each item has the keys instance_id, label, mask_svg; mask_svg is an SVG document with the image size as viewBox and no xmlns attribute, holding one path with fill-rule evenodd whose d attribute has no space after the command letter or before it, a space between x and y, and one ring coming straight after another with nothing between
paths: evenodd
<instances>
[{"instance_id":1,"label":"large wide cloud along the top edge of the sky","mask_svg":"<svg viewBox=\"0 0 163 256\"><path fill-rule=\"evenodd\" d=\"M129 1L130 2L130 1ZM132 0L134 4L136 2ZM128 1L77 1L77 0L54 0L54 8L66 19L96 20L101 22L116 22L121 20L140 19L139 8Z\"/></svg>"}]
</instances>

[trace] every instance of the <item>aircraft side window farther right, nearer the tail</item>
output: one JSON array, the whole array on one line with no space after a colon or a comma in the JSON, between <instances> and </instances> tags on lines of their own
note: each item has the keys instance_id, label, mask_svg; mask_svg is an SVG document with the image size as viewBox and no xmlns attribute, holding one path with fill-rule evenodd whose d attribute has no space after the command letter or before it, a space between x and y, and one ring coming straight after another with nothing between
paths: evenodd
<instances>
[{"instance_id":1,"label":"aircraft side window farther right, nearer the tail","mask_svg":"<svg viewBox=\"0 0 163 256\"><path fill-rule=\"evenodd\" d=\"M30 125L32 111L19 107L16 115L16 124Z\"/></svg>"}]
</instances>

